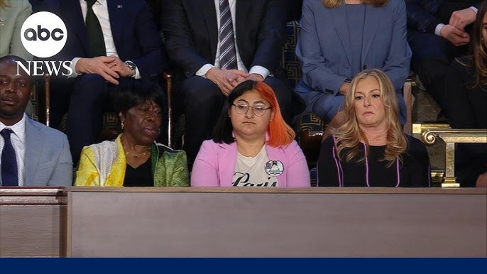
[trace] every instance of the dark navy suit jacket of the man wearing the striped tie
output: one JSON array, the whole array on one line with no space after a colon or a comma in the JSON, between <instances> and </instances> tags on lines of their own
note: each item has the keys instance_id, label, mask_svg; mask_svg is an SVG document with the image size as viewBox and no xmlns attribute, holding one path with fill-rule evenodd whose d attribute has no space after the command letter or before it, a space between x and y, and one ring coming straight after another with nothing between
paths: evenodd
<instances>
[{"instance_id":1,"label":"dark navy suit jacket of the man wearing the striped tie","mask_svg":"<svg viewBox=\"0 0 487 274\"><path fill-rule=\"evenodd\" d=\"M266 67L270 73L280 65L286 13L279 0L236 2L236 43L243 64ZM166 0L162 28L168 55L192 77L205 64L214 64L218 47L217 11L214 0Z\"/></svg>"}]
</instances>

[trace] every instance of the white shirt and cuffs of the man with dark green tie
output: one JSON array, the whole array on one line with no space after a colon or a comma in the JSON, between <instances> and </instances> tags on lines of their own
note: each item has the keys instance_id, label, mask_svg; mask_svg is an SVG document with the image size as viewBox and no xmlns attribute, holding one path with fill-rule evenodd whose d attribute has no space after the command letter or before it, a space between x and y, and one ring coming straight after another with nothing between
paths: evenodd
<instances>
[{"instance_id":1,"label":"white shirt and cuffs of the man with dark green tie","mask_svg":"<svg viewBox=\"0 0 487 274\"><path fill-rule=\"evenodd\" d=\"M86 14L88 11L88 4L86 0L80 0L81 12L83 13L83 20L86 21ZM106 0L97 0L93 6L93 13L97 16L98 21L100 22L100 26L102 27L103 38L105 42L105 49L106 49L106 56L119 56L116 53L116 47L114 42L114 35L111 33L111 26L110 26L110 16L108 13L108 5L106 4ZM75 57L71 61L71 69L73 71L71 77L76 77L76 63L80 60L80 57ZM125 61L125 60L124 60ZM136 67L136 75L134 78L139 79L141 78L140 72L138 72L138 68Z\"/></svg>"}]
</instances>

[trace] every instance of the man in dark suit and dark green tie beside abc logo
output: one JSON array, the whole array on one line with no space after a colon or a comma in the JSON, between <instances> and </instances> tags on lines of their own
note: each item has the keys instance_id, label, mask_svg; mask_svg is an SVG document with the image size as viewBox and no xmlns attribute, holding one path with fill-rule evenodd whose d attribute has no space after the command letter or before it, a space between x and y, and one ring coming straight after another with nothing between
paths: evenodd
<instances>
[{"instance_id":1,"label":"man in dark suit and dark green tie beside abc logo","mask_svg":"<svg viewBox=\"0 0 487 274\"><path fill-rule=\"evenodd\" d=\"M143 0L43 0L33 4L33 11L55 13L67 28L65 47L48 59L70 60L74 72L51 84L51 122L57 126L67 110L67 136L76 163L83 146L99 141L102 111L111 109L111 94L136 81L156 81L168 62ZM98 45L87 27L93 20L102 31Z\"/></svg>"}]
</instances>

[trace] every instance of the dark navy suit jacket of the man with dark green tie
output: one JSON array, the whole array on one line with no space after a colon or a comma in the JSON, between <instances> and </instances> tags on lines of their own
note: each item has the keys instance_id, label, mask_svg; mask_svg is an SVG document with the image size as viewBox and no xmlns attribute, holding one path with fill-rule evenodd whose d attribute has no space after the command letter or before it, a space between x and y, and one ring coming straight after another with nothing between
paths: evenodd
<instances>
[{"instance_id":1,"label":"dark navy suit jacket of the man with dark green tie","mask_svg":"<svg viewBox=\"0 0 487 274\"><path fill-rule=\"evenodd\" d=\"M31 0L32 1L32 0ZM142 79L155 79L168 69L161 50L155 21L143 0L106 0L116 52L123 61L137 65ZM79 0L35 0L33 12L50 11L60 16L67 28L67 42L50 60L87 57L88 40Z\"/></svg>"}]
</instances>

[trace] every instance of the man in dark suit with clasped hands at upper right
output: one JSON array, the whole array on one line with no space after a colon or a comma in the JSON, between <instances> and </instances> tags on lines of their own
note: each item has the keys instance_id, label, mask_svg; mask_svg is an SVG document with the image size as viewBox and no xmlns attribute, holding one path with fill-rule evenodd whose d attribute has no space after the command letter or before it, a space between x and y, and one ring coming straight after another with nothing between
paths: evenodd
<instances>
[{"instance_id":1,"label":"man in dark suit with clasped hands at upper right","mask_svg":"<svg viewBox=\"0 0 487 274\"><path fill-rule=\"evenodd\" d=\"M442 108L444 77L455 57L465 55L469 26L475 21L480 0L406 0L407 42L411 67L429 94Z\"/></svg>"}]
</instances>

